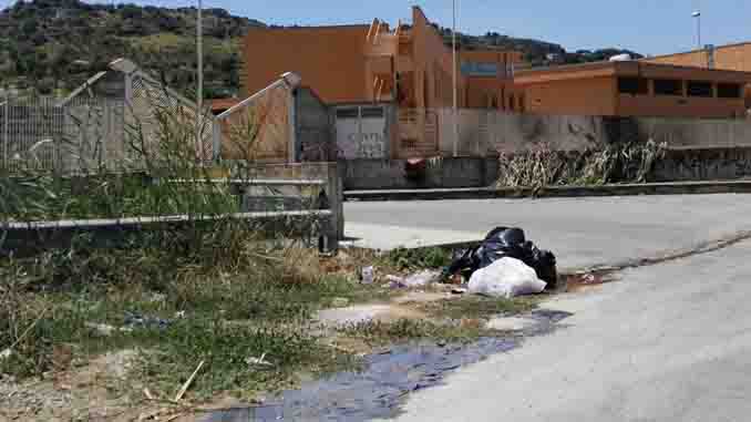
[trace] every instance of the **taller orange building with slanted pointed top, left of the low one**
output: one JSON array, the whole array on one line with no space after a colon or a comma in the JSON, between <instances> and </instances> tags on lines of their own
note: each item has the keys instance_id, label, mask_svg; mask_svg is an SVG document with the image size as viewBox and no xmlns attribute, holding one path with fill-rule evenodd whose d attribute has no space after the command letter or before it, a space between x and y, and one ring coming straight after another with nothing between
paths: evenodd
<instances>
[{"instance_id":1,"label":"taller orange building with slanted pointed top, left of the low one","mask_svg":"<svg viewBox=\"0 0 751 422\"><path fill-rule=\"evenodd\" d=\"M453 105L453 54L419 7L411 24L253 29L245 38L243 88L253 94L294 71L329 104L397 102L402 107ZM461 51L460 107L503 109L512 63L522 53Z\"/></svg>"}]
</instances>

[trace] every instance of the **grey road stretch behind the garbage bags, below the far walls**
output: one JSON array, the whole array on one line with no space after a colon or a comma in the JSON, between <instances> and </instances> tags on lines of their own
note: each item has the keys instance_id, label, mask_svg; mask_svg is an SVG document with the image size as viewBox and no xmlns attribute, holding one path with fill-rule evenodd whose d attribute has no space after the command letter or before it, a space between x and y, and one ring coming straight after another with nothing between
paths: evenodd
<instances>
[{"instance_id":1,"label":"grey road stretch behind the garbage bags, below the far walls","mask_svg":"<svg viewBox=\"0 0 751 422\"><path fill-rule=\"evenodd\" d=\"M390 249L477 240L519 226L560 267L646 258L751 229L751 195L347 203L357 246Z\"/></svg>"}]
</instances>

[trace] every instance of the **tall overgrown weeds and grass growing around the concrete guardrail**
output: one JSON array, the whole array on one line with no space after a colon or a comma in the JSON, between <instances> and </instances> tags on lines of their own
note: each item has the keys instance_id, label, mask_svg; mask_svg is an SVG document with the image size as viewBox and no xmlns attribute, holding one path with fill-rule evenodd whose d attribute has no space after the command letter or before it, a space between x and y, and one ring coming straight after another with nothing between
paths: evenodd
<instances>
[{"instance_id":1,"label":"tall overgrown weeds and grass growing around the concrete guardrail","mask_svg":"<svg viewBox=\"0 0 751 422\"><path fill-rule=\"evenodd\" d=\"M321 350L306 321L335 298L362 292L346 278L327 275L317 251L307 247L309 239L288 238L280 227L289 222L232 218L240 198L228 183L217 183L200 147L210 119L198 119L167 90L150 95L147 110L127 104L119 161L103 154L111 140L82 135L61 152L71 167L65 174L23 166L35 162L33 148L12 175L0 171L2 223L186 217L156 229L79 235L70 245L39 248L32 256L3 250L0 373L42 375L55 368L58 344L72 344L84 360L138 349L141 381L165 389L179 385L205 360L196 383L204 395L274 388L301 368L326 368L331 353ZM235 127L232 141L253 148L256 123L240 122L247 127ZM239 163L218 173L249 181L255 175L248 168ZM295 222L304 231L316 224L316 217ZM2 240L0 231L0 249ZM163 323L134 326L133 316ZM263 353L270 370L247 363Z\"/></svg>"}]
</instances>

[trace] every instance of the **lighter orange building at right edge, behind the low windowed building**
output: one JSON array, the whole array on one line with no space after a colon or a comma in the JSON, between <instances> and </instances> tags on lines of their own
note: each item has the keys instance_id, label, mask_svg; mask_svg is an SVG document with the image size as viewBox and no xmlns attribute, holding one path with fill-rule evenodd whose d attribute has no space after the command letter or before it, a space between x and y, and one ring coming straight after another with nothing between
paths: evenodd
<instances>
[{"instance_id":1,"label":"lighter orange building at right edge, behind the low windowed building","mask_svg":"<svg viewBox=\"0 0 751 422\"><path fill-rule=\"evenodd\" d=\"M751 42L710 47L685 53L647 58L649 63L751 72ZM751 109L751 85L745 88L745 106Z\"/></svg>"}]
</instances>

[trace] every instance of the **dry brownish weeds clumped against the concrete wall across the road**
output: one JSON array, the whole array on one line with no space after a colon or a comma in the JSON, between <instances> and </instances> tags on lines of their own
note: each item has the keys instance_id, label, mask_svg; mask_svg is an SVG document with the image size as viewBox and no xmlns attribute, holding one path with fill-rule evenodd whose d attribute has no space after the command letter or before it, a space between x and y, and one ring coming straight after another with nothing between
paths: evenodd
<instances>
[{"instance_id":1,"label":"dry brownish weeds clumped against the concrete wall across the road","mask_svg":"<svg viewBox=\"0 0 751 422\"><path fill-rule=\"evenodd\" d=\"M649 141L565 152L551 150L548 144L538 144L524 153L502 153L497 185L543 188L556 185L645 183L649 182L655 164L663 157L666 147L666 144Z\"/></svg>"}]
</instances>

